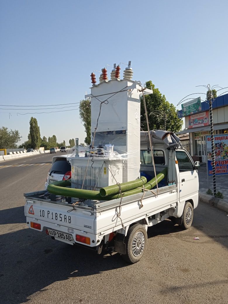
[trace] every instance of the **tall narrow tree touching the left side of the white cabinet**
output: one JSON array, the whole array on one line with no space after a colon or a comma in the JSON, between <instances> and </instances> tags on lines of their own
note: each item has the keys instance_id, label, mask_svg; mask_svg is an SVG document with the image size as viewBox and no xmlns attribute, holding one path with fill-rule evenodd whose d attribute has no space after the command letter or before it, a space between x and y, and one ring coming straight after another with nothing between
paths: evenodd
<instances>
[{"instance_id":1,"label":"tall narrow tree touching the left side of the white cabinet","mask_svg":"<svg viewBox=\"0 0 228 304\"><path fill-rule=\"evenodd\" d=\"M80 100L79 104L79 116L85 127L85 143L88 145L91 143L91 103L88 99Z\"/></svg>"}]
</instances>

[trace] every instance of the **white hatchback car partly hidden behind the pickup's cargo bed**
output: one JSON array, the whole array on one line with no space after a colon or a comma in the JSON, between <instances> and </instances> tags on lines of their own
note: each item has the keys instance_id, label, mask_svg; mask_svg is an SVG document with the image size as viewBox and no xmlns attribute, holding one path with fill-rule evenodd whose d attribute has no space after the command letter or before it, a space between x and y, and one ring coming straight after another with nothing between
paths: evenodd
<instances>
[{"instance_id":1,"label":"white hatchback car partly hidden behind the pickup's cargo bed","mask_svg":"<svg viewBox=\"0 0 228 304\"><path fill-rule=\"evenodd\" d=\"M45 189L54 181L62 181L71 178L71 164L67 161L67 155L54 156L52 166L47 174Z\"/></svg>"}]
</instances>

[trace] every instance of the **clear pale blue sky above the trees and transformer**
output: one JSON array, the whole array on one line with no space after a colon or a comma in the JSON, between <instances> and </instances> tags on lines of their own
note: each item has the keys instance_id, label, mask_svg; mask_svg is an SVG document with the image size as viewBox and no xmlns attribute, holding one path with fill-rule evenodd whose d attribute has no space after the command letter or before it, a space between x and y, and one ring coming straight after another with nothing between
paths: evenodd
<instances>
[{"instance_id":1,"label":"clear pale blue sky above the trees and transformer","mask_svg":"<svg viewBox=\"0 0 228 304\"><path fill-rule=\"evenodd\" d=\"M22 143L33 116L41 137L83 143L77 102L106 64L131 60L133 80L152 80L175 106L205 92L196 85L227 87L227 10L210 0L1 0L0 127L19 130ZM74 107L37 110L67 103ZM51 111L60 112L17 114Z\"/></svg>"}]
</instances>

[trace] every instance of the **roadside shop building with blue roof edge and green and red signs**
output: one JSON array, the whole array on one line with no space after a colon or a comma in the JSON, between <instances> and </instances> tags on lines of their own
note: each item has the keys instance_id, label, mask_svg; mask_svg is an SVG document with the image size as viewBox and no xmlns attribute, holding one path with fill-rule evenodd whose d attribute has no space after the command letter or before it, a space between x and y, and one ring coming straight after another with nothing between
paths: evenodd
<instances>
[{"instance_id":1,"label":"roadside shop building with blue roof edge and green and red signs","mask_svg":"<svg viewBox=\"0 0 228 304\"><path fill-rule=\"evenodd\" d=\"M214 134L228 134L228 94L217 97L212 104ZM185 119L185 130L189 133L190 154L194 161L206 163L206 136L210 135L209 101L196 98L182 105L178 117Z\"/></svg>"}]
</instances>

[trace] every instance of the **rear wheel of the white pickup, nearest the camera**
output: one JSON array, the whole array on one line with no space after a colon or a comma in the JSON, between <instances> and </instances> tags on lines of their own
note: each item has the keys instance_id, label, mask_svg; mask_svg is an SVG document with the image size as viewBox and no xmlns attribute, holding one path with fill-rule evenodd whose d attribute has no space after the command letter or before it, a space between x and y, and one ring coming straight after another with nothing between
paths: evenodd
<instances>
[{"instance_id":1,"label":"rear wheel of the white pickup, nearest the camera","mask_svg":"<svg viewBox=\"0 0 228 304\"><path fill-rule=\"evenodd\" d=\"M143 225L135 224L130 227L125 244L126 254L122 254L123 259L131 264L138 262L147 248L147 232Z\"/></svg>"}]
</instances>

